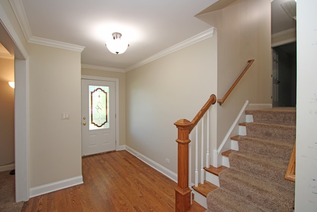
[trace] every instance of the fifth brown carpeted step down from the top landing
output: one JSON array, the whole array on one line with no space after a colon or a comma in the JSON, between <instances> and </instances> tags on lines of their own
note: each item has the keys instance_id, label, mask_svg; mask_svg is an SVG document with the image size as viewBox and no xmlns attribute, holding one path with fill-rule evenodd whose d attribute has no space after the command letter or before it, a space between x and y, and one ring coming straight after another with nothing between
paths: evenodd
<instances>
[{"instance_id":1,"label":"fifth brown carpeted step down from the top landing","mask_svg":"<svg viewBox=\"0 0 317 212\"><path fill-rule=\"evenodd\" d=\"M267 208L268 211L292 211L294 194L282 186L263 183L260 179L234 169L226 169L219 174L220 188L235 196Z\"/></svg>"}]
</instances>

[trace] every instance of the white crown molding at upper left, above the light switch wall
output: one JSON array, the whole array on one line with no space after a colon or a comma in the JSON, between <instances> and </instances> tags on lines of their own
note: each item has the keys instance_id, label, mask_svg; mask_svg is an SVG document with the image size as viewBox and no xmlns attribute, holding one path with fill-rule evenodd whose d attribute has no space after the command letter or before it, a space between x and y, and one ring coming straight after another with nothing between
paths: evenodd
<instances>
[{"instance_id":1,"label":"white crown molding at upper left, above the light switch wall","mask_svg":"<svg viewBox=\"0 0 317 212\"><path fill-rule=\"evenodd\" d=\"M9 0L11 7L13 9L13 12L19 22L19 25L23 31L24 37L29 43L44 45L44 46L50 46L60 49L66 49L71 50L75 52L82 52L85 47L78 46L74 44L64 43L60 41L54 41L50 39L45 38L39 38L32 35L31 28L29 25L29 22L26 18L25 10L23 8L23 4L21 0Z\"/></svg>"}]
</instances>

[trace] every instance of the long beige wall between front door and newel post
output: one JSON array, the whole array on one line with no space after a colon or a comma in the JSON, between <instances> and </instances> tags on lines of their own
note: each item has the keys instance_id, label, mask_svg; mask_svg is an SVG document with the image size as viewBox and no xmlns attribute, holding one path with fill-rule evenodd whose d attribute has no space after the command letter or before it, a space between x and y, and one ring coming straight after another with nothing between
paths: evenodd
<instances>
[{"instance_id":1,"label":"long beige wall between front door and newel post","mask_svg":"<svg viewBox=\"0 0 317 212\"><path fill-rule=\"evenodd\" d=\"M216 74L215 37L128 71L126 145L177 173L173 124L195 117L216 92Z\"/></svg>"}]
</instances>

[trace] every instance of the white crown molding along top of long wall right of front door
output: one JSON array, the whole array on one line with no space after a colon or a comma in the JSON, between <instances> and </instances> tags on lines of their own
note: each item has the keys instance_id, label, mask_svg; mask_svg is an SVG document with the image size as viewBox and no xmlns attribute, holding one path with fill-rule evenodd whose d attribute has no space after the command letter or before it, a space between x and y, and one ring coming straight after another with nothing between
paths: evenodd
<instances>
[{"instance_id":1,"label":"white crown molding along top of long wall right of front door","mask_svg":"<svg viewBox=\"0 0 317 212\"><path fill-rule=\"evenodd\" d=\"M150 63L152 61L155 61L155 60L157 60L157 59L159 59L161 57L164 57L164 56L169 55L169 54L171 54L173 52L176 52L178 50L186 48L186 47L188 47L190 45L198 43L198 42L200 42L202 40L205 40L207 38L210 38L210 37L213 36L213 29L214 28L212 27L212 28L210 28L210 29L208 29L208 30L206 30L206 31L204 31L202 33L199 33L199 34L197 34L197 35L195 35L195 36L193 36L193 37L191 37L191 38L189 38L189 39L187 39L185 41L182 41L182 42L180 42L180 43L178 43L178 44L176 44L174 46L171 46L171 47L169 47L169 48L167 48L167 49L165 49L165 50L163 50L163 51L161 51L161 52L159 52L159 53L157 53L157 54L155 54L155 55L153 55L153 56L151 56L151 57L149 57L149 58L147 58L147 59L145 59L143 61L140 61L139 63L136 63L136 64L126 68L125 72L131 71L131 70L136 69L136 68L138 68L140 66L143 66L143 65L148 64L148 63Z\"/></svg>"}]
</instances>

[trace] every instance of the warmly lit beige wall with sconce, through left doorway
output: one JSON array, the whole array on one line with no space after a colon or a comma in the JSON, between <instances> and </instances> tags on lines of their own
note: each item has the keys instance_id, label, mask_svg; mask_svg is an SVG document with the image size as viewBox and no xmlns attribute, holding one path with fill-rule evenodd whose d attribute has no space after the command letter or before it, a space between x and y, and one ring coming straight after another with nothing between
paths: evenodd
<instances>
[{"instance_id":1,"label":"warmly lit beige wall with sconce, through left doorway","mask_svg":"<svg viewBox=\"0 0 317 212\"><path fill-rule=\"evenodd\" d=\"M14 162L14 60L0 58L0 166Z\"/></svg>"}]
</instances>

